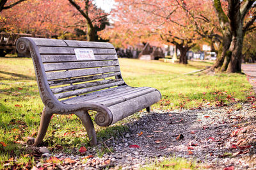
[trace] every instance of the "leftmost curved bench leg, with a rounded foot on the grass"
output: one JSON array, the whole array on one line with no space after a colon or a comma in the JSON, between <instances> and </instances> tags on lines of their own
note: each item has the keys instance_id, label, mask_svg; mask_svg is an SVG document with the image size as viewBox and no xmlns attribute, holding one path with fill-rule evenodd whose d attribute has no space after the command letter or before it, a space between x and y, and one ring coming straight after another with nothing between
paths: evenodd
<instances>
[{"instance_id":1,"label":"leftmost curved bench leg, with a rounded foot on the grass","mask_svg":"<svg viewBox=\"0 0 256 170\"><path fill-rule=\"evenodd\" d=\"M51 116L52 116L52 113L47 108L44 107L41 115L39 131L36 136L36 139L33 137L29 138L27 141L28 145L36 146L42 142L46 134L47 128L49 126L49 123L51 121Z\"/></svg>"}]
</instances>

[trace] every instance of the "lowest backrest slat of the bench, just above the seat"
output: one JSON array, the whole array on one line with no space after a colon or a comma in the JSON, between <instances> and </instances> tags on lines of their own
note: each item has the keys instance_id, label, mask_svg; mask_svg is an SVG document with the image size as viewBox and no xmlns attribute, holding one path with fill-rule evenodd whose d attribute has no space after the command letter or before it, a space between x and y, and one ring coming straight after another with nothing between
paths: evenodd
<instances>
[{"instance_id":1,"label":"lowest backrest slat of the bench, just above the seat","mask_svg":"<svg viewBox=\"0 0 256 170\"><path fill-rule=\"evenodd\" d=\"M103 84L100 86L93 86L91 88L84 88L84 89L77 89L75 91L68 91L65 93L58 93L55 95L56 98L60 99L60 98L65 98L65 97L72 97L72 96L76 96L76 95L81 95L83 93L88 93L91 91L97 91L99 89L105 89L105 88L111 88L113 86L119 86L124 84L124 81L118 81L118 82L113 82L113 83L109 83L109 84Z\"/></svg>"}]
</instances>

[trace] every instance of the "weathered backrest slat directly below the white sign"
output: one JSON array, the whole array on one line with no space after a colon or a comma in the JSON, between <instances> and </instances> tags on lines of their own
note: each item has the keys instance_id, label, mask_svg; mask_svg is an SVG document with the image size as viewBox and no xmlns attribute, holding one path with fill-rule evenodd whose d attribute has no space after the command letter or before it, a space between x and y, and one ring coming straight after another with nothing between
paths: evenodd
<instances>
[{"instance_id":1,"label":"weathered backrest slat directly below the white sign","mask_svg":"<svg viewBox=\"0 0 256 170\"><path fill-rule=\"evenodd\" d=\"M46 63L45 72L57 70L70 70L79 68L95 68L100 66L118 66L118 61L89 61L89 62L68 62L68 63Z\"/></svg>"}]
</instances>

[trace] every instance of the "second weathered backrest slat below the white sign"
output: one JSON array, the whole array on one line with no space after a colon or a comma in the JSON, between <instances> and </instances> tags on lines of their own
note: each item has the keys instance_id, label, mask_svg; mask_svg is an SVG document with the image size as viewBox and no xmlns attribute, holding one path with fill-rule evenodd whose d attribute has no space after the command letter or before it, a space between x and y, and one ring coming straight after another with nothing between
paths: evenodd
<instances>
[{"instance_id":1,"label":"second weathered backrest slat below the white sign","mask_svg":"<svg viewBox=\"0 0 256 170\"><path fill-rule=\"evenodd\" d=\"M65 72L47 72L47 80L57 80L57 79L66 79L71 77L82 77L84 75L93 75L99 73L108 73L108 72L119 72L119 66L109 66L103 68L88 68L83 70L69 70Z\"/></svg>"}]
</instances>

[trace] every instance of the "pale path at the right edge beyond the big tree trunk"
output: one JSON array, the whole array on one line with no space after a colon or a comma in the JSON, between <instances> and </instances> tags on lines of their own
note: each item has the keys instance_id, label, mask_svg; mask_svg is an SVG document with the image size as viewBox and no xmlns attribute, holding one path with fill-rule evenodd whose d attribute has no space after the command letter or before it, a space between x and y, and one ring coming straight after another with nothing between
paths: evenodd
<instances>
[{"instance_id":1,"label":"pale path at the right edge beyond the big tree trunk","mask_svg":"<svg viewBox=\"0 0 256 170\"><path fill-rule=\"evenodd\" d=\"M242 65L242 70L256 93L256 64Z\"/></svg>"}]
</instances>

